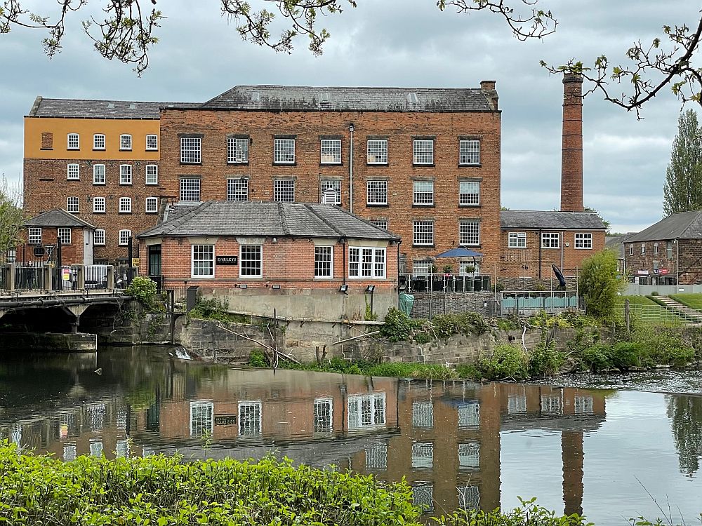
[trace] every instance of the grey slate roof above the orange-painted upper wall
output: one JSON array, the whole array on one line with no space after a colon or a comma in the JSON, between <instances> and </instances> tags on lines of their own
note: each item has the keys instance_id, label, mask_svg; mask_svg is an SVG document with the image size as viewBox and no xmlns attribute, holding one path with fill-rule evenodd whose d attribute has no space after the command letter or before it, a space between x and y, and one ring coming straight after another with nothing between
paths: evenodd
<instances>
[{"instance_id":1,"label":"grey slate roof above the orange-painted upper wall","mask_svg":"<svg viewBox=\"0 0 702 526\"><path fill-rule=\"evenodd\" d=\"M82 119L159 119L159 107L197 107L200 102L137 102L131 100L45 99L37 97L30 117Z\"/></svg>"}]
</instances>

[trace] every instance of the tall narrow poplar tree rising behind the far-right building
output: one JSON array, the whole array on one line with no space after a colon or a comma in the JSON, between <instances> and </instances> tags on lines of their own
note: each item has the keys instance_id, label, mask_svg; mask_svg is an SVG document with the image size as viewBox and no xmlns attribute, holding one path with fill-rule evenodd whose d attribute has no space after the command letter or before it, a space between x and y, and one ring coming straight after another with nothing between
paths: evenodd
<instances>
[{"instance_id":1,"label":"tall narrow poplar tree rising behind the far-right building","mask_svg":"<svg viewBox=\"0 0 702 526\"><path fill-rule=\"evenodd\" d=\"M702 129L692 109L677 119L677 135L663 184L663 213L702 209Z\"/></svg>"}]
</instances>

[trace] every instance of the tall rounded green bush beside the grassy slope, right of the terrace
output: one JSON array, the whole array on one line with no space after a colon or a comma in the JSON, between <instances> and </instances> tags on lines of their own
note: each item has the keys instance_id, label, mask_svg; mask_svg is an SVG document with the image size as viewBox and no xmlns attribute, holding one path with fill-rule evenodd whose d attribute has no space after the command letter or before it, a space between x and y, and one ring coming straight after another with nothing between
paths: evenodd
<instances>
[{"instance_id":1,"label":"tall rounded green bush beside the grassy slope, right of the terrace","mask_svg":"<svg viewBox=\"0 0 702 526\"><path fill-rule=\"evenodd\" d=\"M617 274L617 257L614 250L602 250L583 262L578 286L588 314L595 318L608 319L616 313L617 297L625 285Z\"/></svg>"}]
</instances>

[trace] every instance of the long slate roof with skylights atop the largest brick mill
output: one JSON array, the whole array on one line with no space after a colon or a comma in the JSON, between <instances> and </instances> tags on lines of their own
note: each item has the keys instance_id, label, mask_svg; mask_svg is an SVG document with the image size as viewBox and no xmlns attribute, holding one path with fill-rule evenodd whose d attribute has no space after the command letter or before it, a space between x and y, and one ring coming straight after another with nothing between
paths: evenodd
<instances>
[{"instance_id":1,"label":"long slate roof with skylights atop the largest brick mill","mask_svg":"<svg viewBox=\"0 0 702 526\"><path fill-rule=\"evenodd\" d=\"M410 100L412 93L417 102ZM497 92L479 88L234 86L202 104L201 109L491 112L487 95L496 97Z\"/></svg>"}]
</instances>

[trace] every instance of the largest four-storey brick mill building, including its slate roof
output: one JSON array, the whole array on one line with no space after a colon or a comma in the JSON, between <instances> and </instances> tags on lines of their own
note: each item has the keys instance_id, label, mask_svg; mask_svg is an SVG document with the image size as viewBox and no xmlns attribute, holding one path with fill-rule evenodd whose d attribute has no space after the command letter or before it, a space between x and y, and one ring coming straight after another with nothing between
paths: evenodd
<instances>
[{"instance_id":1,"label":"largest four-storey brick mill building, including its slate roof","mask_svg":"<svg viewBox=\"0 0 702 526\"><path fill-rule=\"evenodd\" d=\"M161 110L161 184L180 201L336 204L401 236L405 271L465 246L491 272L500 253L497 101L494 81L235 86L199 107Z\"/></svg>"}]
</instances>

